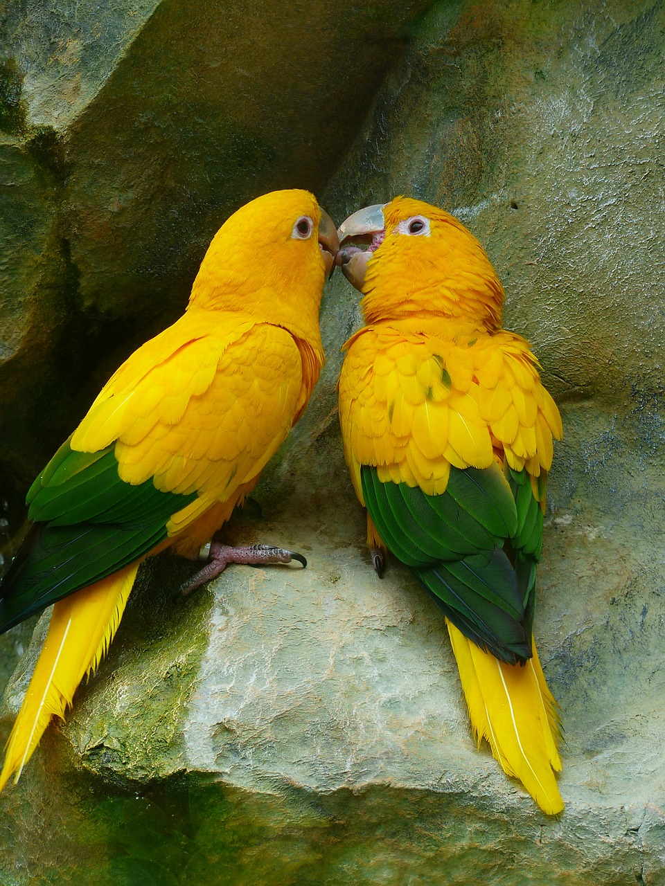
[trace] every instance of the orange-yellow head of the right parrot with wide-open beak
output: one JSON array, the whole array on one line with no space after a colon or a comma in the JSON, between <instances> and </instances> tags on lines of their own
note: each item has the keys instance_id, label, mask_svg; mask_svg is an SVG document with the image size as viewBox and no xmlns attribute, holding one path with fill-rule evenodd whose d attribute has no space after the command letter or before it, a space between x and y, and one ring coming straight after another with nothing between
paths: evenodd
<instances>
[{"instance_id":1,"label":"orange-yellow head of the right parrot with wide-open beak","mask_svg":"<svg viewBox=\"0 0 665 886\"><path fill-rule=\"evenodd\" d=\"M504 289L482 246L453 215L395 197L338 230L336 264L364 293L367 323L441 315L497 329Z\"/></svg>"}]
</instances>

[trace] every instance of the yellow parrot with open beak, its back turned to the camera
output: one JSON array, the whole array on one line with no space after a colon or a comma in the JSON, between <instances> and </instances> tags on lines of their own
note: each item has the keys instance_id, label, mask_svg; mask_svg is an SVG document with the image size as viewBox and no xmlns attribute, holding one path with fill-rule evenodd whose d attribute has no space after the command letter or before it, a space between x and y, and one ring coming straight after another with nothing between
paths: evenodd
<instances>
[{"instance_id":1,"label":"yellow parrot with open beak, its back turned to the camera","mask_svg":"<svg viewBox=\"0 0 665 886\"><path fill-rule=\"evenodd\" d=\"M387 548L441 607L477 742L557 814L559 717L532 626L559 410L457 219L397 197L338 233L364 294L339 395L372 561L380 575Z\"/></svg>"}]
</instances>

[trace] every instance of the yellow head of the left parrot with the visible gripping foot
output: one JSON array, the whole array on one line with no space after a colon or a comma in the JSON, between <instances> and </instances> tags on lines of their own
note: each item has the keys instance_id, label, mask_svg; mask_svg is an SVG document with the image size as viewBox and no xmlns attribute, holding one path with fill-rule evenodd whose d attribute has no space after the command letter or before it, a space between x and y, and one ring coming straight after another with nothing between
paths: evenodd
<instances>
[{"instance_id":1,"label":"yellow head of the left parrot with the visible gripping foot","mask_svg":"<svg viewBox=\"0 0 665 886\"><path fill-rule=\"evenodd\" d=\"M270 191L241 206L217 231L188 310L242 311L309 330L318 324L321 291L338 249L334 223L313 194Z\"/></svg>"}]
</instances>

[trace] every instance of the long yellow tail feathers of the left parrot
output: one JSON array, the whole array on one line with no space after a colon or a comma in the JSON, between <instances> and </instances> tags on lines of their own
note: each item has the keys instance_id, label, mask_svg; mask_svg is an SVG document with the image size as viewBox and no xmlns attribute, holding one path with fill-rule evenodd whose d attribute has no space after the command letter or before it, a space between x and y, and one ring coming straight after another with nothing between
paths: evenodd
<instances>
[{"instance_id":1,"label":"long yellow tail feathers of the left parrot","mask_svg":"<svg viewBox=\"0 0 665 886\"><path fill-rule=\"evenodd\" d=\"M93 671L104 657L137 569L138 564L132 563L53 607L49 632L7 742L0 791L12 773L16 773L14 782L19 781L51 717L65 718L86 672Z\"/></svg>"}]
</instances>

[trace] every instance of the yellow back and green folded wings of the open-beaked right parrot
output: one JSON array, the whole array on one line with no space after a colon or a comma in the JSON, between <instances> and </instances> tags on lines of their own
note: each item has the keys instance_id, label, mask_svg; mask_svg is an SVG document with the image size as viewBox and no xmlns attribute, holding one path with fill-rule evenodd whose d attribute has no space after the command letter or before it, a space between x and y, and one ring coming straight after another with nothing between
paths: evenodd
<instances>
[{"instance_id":1,"label":"yellow back and green folded wings of the open-beaked right parrot","mask_svg":"<svg viewBox=\"0 0 665 886\"><path fill-rule=\"evenodd\" d=\"M381 540L453 624L514 663L531 656L540 503L559 413L526 346L514 355L499 344L371 330L349 348L340 421ZM536 427L549 447L537 446Z\"/></svg>"}]
</instances>

